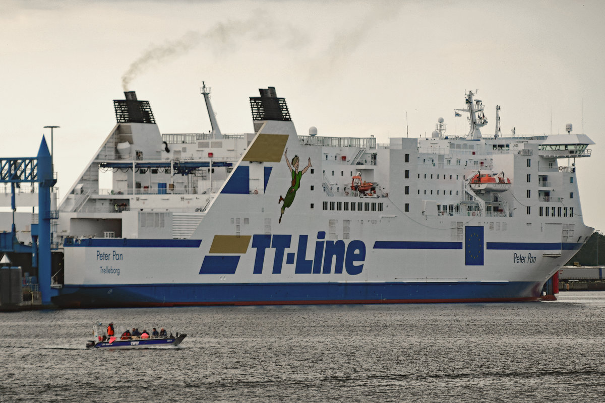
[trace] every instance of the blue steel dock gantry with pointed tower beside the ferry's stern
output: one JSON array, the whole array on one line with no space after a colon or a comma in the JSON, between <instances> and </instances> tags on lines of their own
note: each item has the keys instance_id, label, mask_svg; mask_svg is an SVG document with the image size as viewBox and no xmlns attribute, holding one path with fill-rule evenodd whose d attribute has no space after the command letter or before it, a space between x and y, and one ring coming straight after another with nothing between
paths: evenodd
<instances>
[{"instance_id":1,"label":"blue steel dock gantry with pointed tower beside the ferry's stern","mask_svg":"<svg viewBox=\"0 0 605 403\"><path fill-rule=\"evenodd\" d=\"M20 243L15 228L15 187L24 182L38 183L38 224L31 224L31 246ZM50 189L56 184L53 163L46 139L34 158L0 158L0 183L10 183L13 225L10 232L0 233L0 252L31 253L32 266L38 267L42 305L50 305L51 297L51 232Z\"/></svg>"}]
</instances>

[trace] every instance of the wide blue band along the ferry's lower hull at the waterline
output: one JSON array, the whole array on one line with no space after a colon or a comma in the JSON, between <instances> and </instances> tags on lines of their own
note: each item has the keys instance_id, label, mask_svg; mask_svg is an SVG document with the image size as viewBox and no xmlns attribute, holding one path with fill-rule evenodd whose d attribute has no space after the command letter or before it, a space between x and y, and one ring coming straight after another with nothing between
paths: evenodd
<instances>
[{"instance_id":1,"label":"wide blue band along the ferry's lower hull at the waterline","mask_svg":"<svg viewBox=\"0 0 605 403\"><path fill-rule=\"evenodd\" d=\"M496 301L538 298L540 282L65 285L59 306Z\"/></svg>"}]
</instances>

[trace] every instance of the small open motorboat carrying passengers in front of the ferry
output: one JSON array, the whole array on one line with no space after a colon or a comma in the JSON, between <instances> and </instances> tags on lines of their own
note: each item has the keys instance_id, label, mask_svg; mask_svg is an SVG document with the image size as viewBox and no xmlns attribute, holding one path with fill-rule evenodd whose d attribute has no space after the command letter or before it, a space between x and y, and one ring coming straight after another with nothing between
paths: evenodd
<instances>
[{"instance_id":1,"label":"small open motorboat carrying passengers in front of the ferry","mask_svg":"<svg viewBox=\"0 0 605 403\"><path fill-rule=\"evenodd\" d=\"M177 349L179 344L186 334L178 334L174 337L170 334L168 337L153 337L142 338L139 336L110 336L105 334L105 329L102 323L97 323L93 326L94 340L88 340L86 343L87 349Z\"/></svg>"}]
</instances>

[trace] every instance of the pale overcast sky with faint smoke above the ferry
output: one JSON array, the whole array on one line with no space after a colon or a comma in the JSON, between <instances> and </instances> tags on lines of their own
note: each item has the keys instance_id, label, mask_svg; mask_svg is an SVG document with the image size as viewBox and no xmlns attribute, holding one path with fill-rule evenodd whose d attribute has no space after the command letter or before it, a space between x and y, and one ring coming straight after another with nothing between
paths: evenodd
<instances>
[{"instance_id":1,"label":"pale overcast sky with faint smoke above the ferry","mask_svg":"<svg viewBox=\"0 0 605 403\"><path fill-rule=\"evenodd\" d=\"M563 133L597 144L578 159L584 222L605 230L605 3L601 1L0 2L2 156L34 156L57 125L61 196L115 124L123 90L149 100L163 133L252 132L248 97L275 86L299 134L388 137L468 131L479 89L494 132ZM406 112L408 120L406 121ZM463 120L464 119L464 120ZM551 129L552 127L552 129ZM49 144L50 145L50 144Z\"/></svg>"}]
</instances>

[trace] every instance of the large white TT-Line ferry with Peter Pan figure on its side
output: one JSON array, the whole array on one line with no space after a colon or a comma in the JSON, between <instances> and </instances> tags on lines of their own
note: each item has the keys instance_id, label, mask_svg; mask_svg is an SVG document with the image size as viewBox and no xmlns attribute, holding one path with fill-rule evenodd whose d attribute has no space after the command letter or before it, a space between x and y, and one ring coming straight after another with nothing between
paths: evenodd
<instances>
[{"instance_id":1,"label":"large white TT-Line ferry with Peter Pan figure on its side","mask_svg":"<svg viewBox=\"0 0 605 403\"><path fill-rule=\"evenodd\" d=\"M269 87L250 97L253 133L227 135L201 94L209 133L162 134L135 92L114 100L116 125L58 208L54 304L536 300L592 234L575 159L594 143L571 125L503 137L497 107L482 135L465 91L467 135L442 118L387 144L298 135Z\"/></svg>"}]
</instances>

